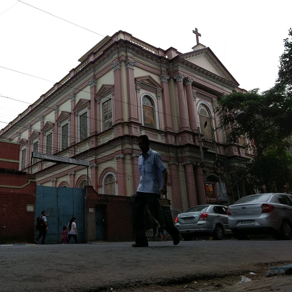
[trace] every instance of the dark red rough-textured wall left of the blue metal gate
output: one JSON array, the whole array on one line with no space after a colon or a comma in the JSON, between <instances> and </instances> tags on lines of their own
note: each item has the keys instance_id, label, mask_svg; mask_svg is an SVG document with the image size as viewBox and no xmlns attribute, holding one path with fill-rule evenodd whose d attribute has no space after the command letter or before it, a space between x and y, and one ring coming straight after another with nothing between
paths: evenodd
<instances>
[{"instance_id":1,"label":"dark red rough-textured wall left of the blue metal gate","mask_svg":"<svg viewBox=\"0 0 292 292\"><path fill-rule=\"evenodd\" d=\"M26 210L27 205L36 205L36 182L29 182L30 179L35 176L0 170L0 243L34 240L35 211Z\"/></svg>"}]
</instances>

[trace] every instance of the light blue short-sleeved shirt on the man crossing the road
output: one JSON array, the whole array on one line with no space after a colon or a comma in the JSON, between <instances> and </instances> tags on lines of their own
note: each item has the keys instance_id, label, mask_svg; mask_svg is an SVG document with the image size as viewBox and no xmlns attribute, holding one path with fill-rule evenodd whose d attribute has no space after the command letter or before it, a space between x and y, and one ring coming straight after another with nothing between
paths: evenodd
<instances>
[{"instance_id":1,"label":"light blue short-sleeved shirt on the man crossing the road","mask_svg":"<svg viewBox=\"0 0 292 292\"><path fill-rule=\"evenodd\" d=\"M166 169L160 154L149 148L145 158L138 158L140 182L137 192L159 194L163 185L162 172Z\"/></svg>"}]
</instances>

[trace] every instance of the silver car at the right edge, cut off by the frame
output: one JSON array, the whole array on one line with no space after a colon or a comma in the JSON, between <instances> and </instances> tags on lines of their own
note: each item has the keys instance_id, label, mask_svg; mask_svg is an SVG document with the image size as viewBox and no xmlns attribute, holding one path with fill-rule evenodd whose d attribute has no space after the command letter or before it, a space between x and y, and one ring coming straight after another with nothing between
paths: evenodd
<instances>
[{"instance_id":1,"label":"silver car at the right edge, cut off by the frame","mask_svg":"<svg viewBox=\"0 0 292 292\"><path fill-rule=\"evenodd\" d=\"M268 232L276 238L290 239L292 224L292 196L264 193L245 196L228 207L228 223L235 238Z\"/></svg>"}]
</instances>

